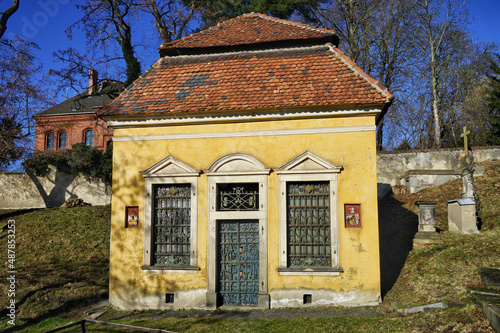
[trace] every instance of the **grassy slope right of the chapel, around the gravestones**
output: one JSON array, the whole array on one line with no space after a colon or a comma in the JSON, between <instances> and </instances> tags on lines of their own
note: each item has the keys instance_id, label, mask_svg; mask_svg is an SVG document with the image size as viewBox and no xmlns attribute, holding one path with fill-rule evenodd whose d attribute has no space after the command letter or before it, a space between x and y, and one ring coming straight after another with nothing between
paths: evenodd
<instances>
[{"instance_id":1,"label":"grassy slope right of the chapel, around the gravestones","mask_svg":"<svg viewBox=\"0 0 500 333\"><path fill-rule=\"evenodd\" d=\"M446 203L460 197L461 180L413 195L397 196L403 207L417 214L419 200L437 201L436 226L444 245L409 253L397 283L384 301L393 307L410 307L440 300L466 301L466 286L482 286L479 267L500 267L500 161L483 163L484 176L475 179L481 201L482 230L476 235L447 231Z\"/></svg>"}]
</instances>

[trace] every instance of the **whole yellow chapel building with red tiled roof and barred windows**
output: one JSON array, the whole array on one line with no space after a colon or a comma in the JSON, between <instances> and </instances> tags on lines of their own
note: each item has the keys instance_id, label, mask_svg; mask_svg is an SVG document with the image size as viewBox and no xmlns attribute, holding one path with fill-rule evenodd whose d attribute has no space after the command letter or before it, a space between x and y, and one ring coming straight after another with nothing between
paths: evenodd
<instances>
[{"instance_id":1,"label":"whole yellow chapel building with red tiled roof and barred windows","mask_svg":"<svg viewBox=\"0 0 500 333\"><path fill-rule=\"evenodd\" d=\"M245 14L160 48L101 110L122 309L381 301L375 128L333 31Z\"/></svg>"}]
</instances>

